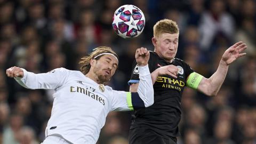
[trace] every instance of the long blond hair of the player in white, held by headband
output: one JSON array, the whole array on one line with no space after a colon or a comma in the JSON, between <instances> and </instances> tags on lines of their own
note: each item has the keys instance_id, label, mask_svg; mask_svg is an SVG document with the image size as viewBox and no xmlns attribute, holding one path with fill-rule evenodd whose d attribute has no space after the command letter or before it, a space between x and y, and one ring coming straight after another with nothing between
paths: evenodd
<instances>
[{"instance_id":1,"label":"long blond hair of the player in white, held by headband","mask_svg":"<svg viewBox=\"0 0 256 144\"><path fill-rule=\"evenodd\" d=\"M86 75L91 68L91 64L90 64L91 59L94 59L97 55L99 55L101 53L112 53L118 58L118 55L111 49L111 47L108 47L108 46L96 47L95 49L93 49L93 51L88 56L81 58L81 61L79 61L79 64L82 65L80 67L80 70L82 71L82 73L84 75ZM100 55L99 57L97 57L95 59L98 60L101 57L102 57L102 55Z\"/></svg>"}]
</instances>

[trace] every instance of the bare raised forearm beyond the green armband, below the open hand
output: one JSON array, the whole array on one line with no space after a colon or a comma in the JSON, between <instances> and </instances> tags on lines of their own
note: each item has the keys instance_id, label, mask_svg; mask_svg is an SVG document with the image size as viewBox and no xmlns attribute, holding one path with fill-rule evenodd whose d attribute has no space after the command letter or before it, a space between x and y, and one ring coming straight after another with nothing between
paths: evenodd
<instances>
[{"instance_id":1,"label":"bare raised forearm beyond the green armband, below the open hand","mask_svg":"<svg viewBox=\"0 0 256 144\"><path fill-rule=\"evenodd\" d=\"M222 60L219 63L218 69L215 73L209 78L209 95L217 95L220 90L221 85L223 84L228 71L228 65Z\"/></svg>"}]
</instances>

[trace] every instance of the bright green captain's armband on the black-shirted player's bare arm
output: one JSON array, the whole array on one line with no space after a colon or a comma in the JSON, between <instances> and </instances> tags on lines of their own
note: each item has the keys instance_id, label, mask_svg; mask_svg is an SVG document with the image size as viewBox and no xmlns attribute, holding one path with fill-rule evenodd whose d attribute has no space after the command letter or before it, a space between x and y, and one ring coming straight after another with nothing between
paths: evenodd
<instances>
[{"instance_id":1,"label":"bright green captain's armband on the black-shirted player's bare arm","mask_svg":"<svg viewBox=\"0 0 256 144\"><path fill-rule=\"evenodd\" d=\"M192 89L197 89L199 83L202 81L202 78L203 76L200 75L200 74L197 74L197 73L191 73L189 76L188 76L188 79L187 79L187 83L186 85L188 87L191 87Z\"/></svg>"}]
</instances>

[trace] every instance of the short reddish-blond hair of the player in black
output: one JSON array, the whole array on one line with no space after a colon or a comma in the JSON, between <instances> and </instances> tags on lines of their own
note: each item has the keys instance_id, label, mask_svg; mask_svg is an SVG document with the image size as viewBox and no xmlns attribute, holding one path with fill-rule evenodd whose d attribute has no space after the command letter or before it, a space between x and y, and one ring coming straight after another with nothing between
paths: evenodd
<instances>
[{"instance_id":1,"label":"short reddish-blond hair of the player in black","mask_svg":"<svg viewBox=\"0 0 256 144\"><path fill-rule=\"evenodd\" d=\"M173 20L163 19L156 22L153 27L154 37L158 37L160 34L179 34L179 27Z\"/></svg>"}]
</instances>

